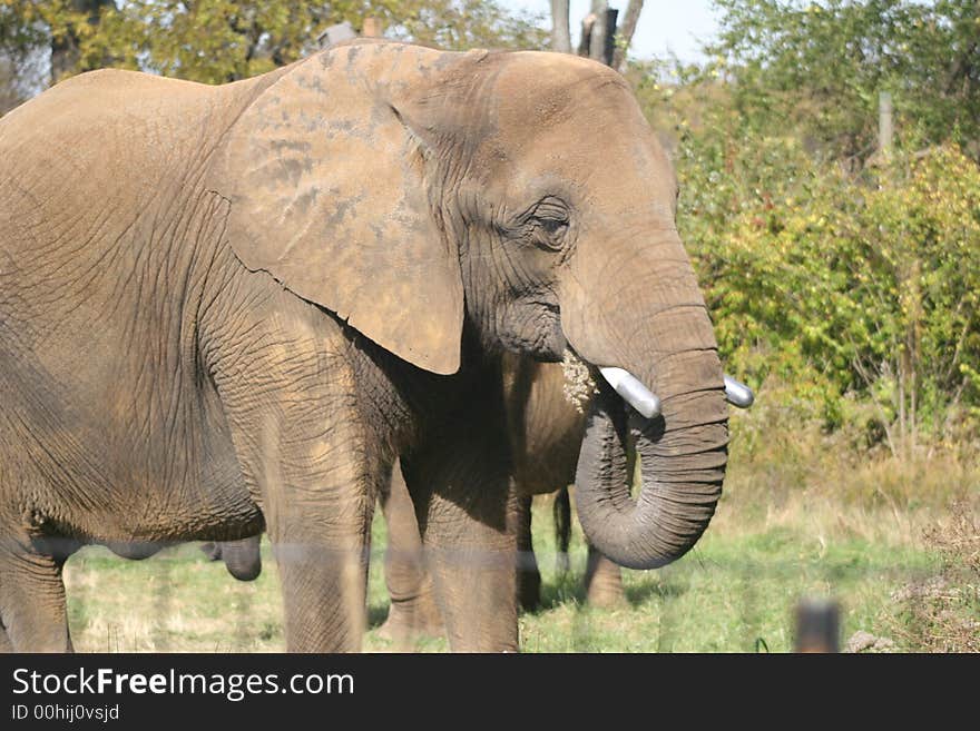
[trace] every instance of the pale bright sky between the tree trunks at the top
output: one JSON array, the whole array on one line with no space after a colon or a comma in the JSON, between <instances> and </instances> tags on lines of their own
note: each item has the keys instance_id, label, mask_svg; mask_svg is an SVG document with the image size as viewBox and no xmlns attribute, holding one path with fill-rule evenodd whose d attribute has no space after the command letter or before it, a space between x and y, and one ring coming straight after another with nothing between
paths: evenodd
<instances>
[{"instance_id":1,"label":"pale bright sky between the tree trunks at the top","mask_svg":"<svg viewBox=\"0 0 980 731\"><path fill-rule=\"evenodd\" d=\"M501 3L513 9L541 13L550 23L548 0L501 0ZM620 18L627 4L628 0L609 2L610 8L619 10ZM571 0L569 17L574 45L578 42L581 19L588 14L589 8L590 0ZM650 58L664 57L673 51L684 61L703 60L698 41L712 38L716 28L710 0L646 0L629 52L636 58Z\"/></svg>"}]
</instances>

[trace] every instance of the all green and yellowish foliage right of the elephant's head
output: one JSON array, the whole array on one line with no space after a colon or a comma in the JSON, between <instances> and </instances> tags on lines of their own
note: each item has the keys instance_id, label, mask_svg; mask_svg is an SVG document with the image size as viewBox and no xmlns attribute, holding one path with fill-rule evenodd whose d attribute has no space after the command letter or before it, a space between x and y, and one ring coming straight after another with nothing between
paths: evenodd
<instances>
[{"instance_id":1,"label":"all green and yellowish foliage right of the elephant's head","mask_svg":"<svg viewBox=\"0 0 980 731\"><path fill-rule=\"evenodd\" d=\"M709 63L633 73L727 367L896 455L976 436L980 6L717 4Z\"/></svg>"}]
</instances>

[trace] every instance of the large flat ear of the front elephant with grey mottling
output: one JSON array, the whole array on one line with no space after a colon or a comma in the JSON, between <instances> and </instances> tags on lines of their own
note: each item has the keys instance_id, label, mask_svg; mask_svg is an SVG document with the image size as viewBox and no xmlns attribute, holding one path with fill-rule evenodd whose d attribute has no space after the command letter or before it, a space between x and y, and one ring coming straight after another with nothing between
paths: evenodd
<instances>
[{"instance_id":1,"label":"large flat ear of the front elephant with grey mottling","mask_svg":"<svg viewBox=\"0 0 980 731\"><path fill-rule=\"evenodd\" d=\"M441 56L353 45L294 65L233 125L208 187L231 201L227 236L248 269L450 374L463 317L459 255L427 196L424 144L399 112Z\"/></svg>"}]
</instances>

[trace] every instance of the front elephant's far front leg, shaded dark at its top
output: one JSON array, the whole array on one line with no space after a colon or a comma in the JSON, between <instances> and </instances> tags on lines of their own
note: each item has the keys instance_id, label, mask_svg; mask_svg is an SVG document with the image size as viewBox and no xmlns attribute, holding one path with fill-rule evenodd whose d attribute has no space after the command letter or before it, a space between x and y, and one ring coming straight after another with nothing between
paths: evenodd
<instances>
[{"instance_id":1,"label":"front elephant's far front leg, shaded dark at its top","mask_svg":"<svg viewBox=\"0 0 980 731\"><path fill-rule=\"evenodd\" d=\"M486 433L459 436L445 439L438 456L402 462L435 600L453 651L517 651L517 511L507 451L478 447Z\"/></svg>"}]
</instances>

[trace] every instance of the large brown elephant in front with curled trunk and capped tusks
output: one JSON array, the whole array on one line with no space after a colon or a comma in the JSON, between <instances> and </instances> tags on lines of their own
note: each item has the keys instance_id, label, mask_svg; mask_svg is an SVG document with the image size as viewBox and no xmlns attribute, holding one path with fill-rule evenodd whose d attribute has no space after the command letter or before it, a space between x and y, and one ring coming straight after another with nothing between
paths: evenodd
<instances>
[{"instance_id":1,"label":"large brown elephant in front with curled trunk and capped tusks","mask_svg":"<svg viewBox=\"0 0 980 731\"><path fill-rule=\"evenodd\" d=\"M450 648L518 650L504 352L594 373L575 482L598 550L650 569L706 530L724 374L618 72L393 41L219 86L99 70L0 119L0 159L13 649L71 650L82 545L264 530L286 649L359 650L400 455Z\"/></svg>"}]
</instances>

